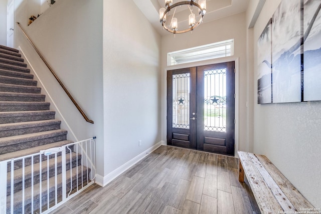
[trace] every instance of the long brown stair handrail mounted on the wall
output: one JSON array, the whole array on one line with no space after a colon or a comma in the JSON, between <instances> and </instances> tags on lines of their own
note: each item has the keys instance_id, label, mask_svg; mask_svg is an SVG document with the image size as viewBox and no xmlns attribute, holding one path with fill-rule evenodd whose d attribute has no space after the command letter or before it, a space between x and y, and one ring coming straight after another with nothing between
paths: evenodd
<instances>
[{"instance_id":1,"label":"long brown stair handrail mounted on the wall","mask_svg":"<svg viewBox=\"0 0 321 214\"><path fill-rule=\"evenodd\" d=\"M89 123L94 123L94 121L90 120L87 115L85 114L85 112L80 108L80 106L78 105L78 103L76 102L76 100L71 96L71 94L69 93L69 91L67 90L67 88L65 87L65 85L61 82L61 80L59 79L59 77L57 76L57 74L54 72L54 70L51 68L51 66L48 64L48 62L46 61L46 59L44 58L44 56L40 53L40 51L38 50L38 48L35 46L35 44L31 41L31 39L28 37L28 35L26 34L26 32L24 31L24 29L21 27L20 23L17 22L18 27L22 30L23 34L25 35L25 37L28 39L28 41L31 43L31 45L34 47L35 51L38 53L38 55L40 56L40 58L43 60L43 62L46 64L46 66L48 67L48 69L50 70L50 72L54 75L54 77L56 78L56 80L58 81L58 83L61 85L61 87L64 89L64 91L66 92L66 94L68 95L68 97L70 98L70 100L74 103L74 105L76 106L76 108L78 109L78 111L81 113L81 115L84 117L84 119L89 122Z\"/></svg>"}]
</instances>

